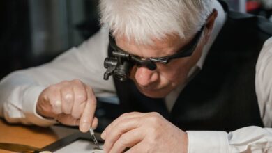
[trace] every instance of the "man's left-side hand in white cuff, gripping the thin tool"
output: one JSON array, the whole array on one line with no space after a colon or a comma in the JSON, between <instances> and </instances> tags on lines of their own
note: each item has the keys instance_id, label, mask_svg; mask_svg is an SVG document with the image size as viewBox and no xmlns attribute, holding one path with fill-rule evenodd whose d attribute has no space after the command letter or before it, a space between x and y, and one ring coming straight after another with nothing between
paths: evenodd
<instances>
[{"instance_id":1,"label":"man's left-side hand in white cuff, gripping the thin tool","mask_svg":"<svg viewBox=\"0 0 272 153\"><path fill-rule=\"evenodd\" d=\"M45 88L38 97L36 111L62 124L79 125L82 132L98 124L98 119L94 118L96 97L93 90L78 79Z\"/></svg>"}]
</instances>

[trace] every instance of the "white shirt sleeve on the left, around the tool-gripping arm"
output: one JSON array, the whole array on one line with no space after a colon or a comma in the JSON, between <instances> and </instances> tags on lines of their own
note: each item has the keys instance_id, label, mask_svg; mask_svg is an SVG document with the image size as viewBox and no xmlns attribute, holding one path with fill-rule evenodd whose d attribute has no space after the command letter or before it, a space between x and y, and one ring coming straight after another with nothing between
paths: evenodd
<instances>
[{"instance_id":1,"label":"white shirt sleeve on the left, around the tool-gripping arm","mask_svg":"<svg viewBox=\"0 0 272 153\"><path fill-rule=\"evenodd\" d=\"M103 28L79 47L69 49L50 63L8 74L0 82L0 116L13 123L54 124L36 113L36 102L47 86L64 80L80 79L91 86L98 97L116 95L112 78L103 80L107 33Z\"/></svg>"}]
</instances>

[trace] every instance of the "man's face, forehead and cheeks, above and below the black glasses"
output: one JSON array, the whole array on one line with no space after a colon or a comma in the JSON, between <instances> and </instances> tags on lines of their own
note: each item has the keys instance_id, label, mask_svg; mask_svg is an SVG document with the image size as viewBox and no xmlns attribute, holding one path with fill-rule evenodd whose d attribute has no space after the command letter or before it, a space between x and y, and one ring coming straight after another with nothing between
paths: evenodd
<instances>
[{"instance_id":1,"label":"man's face, forehead and cheeks, above and below the black glasses","mask_svg":"<svg viewBox=\"0 0 272 153\"><path fill-rule=\"evenodd\" d=\"M152 46L136 45L133 41L128 42L126 38L116 38L116 45L127 51L129 54L141 58L159 58L175 54L185 45L190 43L192 38L182 40L176 35L168 35L164 40L154 40ZM140 92L148 97L165 97L177 86L186 82L188 72L197 63L201 56L204 45L199 42L192 56L176 58L167 63L156 63L156 70L149 70L147 67L134 66L130 74Z\"/></svg>"}]
</instances>

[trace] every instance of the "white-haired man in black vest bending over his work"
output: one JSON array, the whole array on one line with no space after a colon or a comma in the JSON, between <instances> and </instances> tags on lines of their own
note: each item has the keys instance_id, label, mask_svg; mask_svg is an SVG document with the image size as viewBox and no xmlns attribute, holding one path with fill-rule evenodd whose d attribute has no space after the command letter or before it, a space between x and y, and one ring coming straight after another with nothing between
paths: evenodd
<instances>
[{"instance_id":1,"label":"white-haired man in black vest bending over his work","mask_svg":"<svg viewBox=\"0 0 272 153\"><path fill-rule=\"evenodd\" d=\"M255 18L213 0L101 0L100 15L80 47L1 81L1 116L88 131L96 97L118 96L105 152L272 152L272 40L259 56Z\"/></svg>"}]
</instances>

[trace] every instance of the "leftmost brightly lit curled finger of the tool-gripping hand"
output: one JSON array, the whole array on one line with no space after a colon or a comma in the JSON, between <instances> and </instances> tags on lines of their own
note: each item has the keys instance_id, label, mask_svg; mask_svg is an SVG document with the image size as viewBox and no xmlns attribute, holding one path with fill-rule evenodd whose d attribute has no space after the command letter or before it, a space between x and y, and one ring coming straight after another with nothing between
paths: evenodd
<instances>
[{"instance_id":1,"label":"leftmost brightly lit curled finger of the tool-gripping hand","mask_svg":"<svg viewBox=\"0 0 272 153\"><path fill-rule=\"evenodd\" d=\"M48 92L48 99L52 106L52 111L55 114L61 114L61 91L59 88L50 88Z\"/></svg>"}]
</instances>

